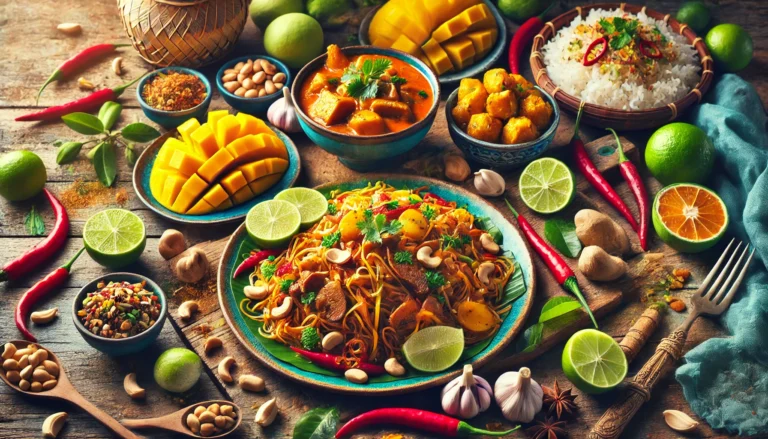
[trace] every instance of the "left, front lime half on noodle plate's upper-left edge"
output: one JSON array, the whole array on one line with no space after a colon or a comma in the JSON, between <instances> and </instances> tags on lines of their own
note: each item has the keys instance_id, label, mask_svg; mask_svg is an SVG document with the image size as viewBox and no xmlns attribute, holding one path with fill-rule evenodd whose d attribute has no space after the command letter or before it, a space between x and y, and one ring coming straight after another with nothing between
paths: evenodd
<instances>
[{"instance_id":1,"label":"left, front lime half on noodle plate's upper-left edge","mask_svg":"<svg viewBox=\"0 0 768 439\"><path fill-rule=\"evenodd\" d=\"M268 200L253 206L245 217L245 229L256 244L265 248L287 244L301 226L301 213L283 200Z\"/></svg>"}]
</instances>

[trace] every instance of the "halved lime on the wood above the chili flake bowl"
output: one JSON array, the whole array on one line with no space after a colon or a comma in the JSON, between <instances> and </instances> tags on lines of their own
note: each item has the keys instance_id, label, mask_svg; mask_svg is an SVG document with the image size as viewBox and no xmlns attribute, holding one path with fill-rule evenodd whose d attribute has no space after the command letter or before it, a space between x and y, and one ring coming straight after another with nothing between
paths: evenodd
<instances>
[{"instance_id":1,"label":"halved lime on the wood above the chili flake bowl","mask_svg":"<svg viewBox=\"0 0 768 439\"><path fill-rule=\"evenodd\" d=\"M83 244L91 259L109 268L136 262L146 243L144 222L125 209L102 210L83 228Z\"/></svg>"}]
</instances>

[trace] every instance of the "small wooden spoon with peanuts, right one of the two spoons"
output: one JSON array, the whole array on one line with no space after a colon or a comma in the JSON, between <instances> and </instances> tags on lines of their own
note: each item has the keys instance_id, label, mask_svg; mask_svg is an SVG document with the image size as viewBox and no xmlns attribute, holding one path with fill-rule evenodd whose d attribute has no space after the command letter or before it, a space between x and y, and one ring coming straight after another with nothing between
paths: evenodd
<instances>
[{"instance_id":1,"label":"small wooden spoon with peanuts, right one of the two spoons","mask_svg":"<svg viewBox=\"0 0 768 439\"><path fill-rule=\"evenodd\" d=\"M242 419L242 412L237 404L230 401L212 400L198 402L158 418L123 419L120 422L128 428L159 428L189 437L216 439L228 436L237 430ZM211 426L210 429L205 430L206 424Z\"/></svg>"}]
</instances>

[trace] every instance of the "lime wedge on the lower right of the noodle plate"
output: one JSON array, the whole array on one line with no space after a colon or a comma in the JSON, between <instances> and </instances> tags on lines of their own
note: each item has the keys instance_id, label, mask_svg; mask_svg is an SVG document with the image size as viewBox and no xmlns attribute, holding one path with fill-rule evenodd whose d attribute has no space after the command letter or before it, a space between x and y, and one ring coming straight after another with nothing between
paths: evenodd
<instances>
[{"instance_id":1,"label":"lime wedge on the lower right of the noodle plate","mask_svg":"<svg viewBox=\"0 0 768 439\"><path fill-rule=\"evenodd\" d=\"M464 352L464 331L450 326L430 326L403 344L403 355L414 369L440 372L459 361Z\"/></svg>"}]
</instances>

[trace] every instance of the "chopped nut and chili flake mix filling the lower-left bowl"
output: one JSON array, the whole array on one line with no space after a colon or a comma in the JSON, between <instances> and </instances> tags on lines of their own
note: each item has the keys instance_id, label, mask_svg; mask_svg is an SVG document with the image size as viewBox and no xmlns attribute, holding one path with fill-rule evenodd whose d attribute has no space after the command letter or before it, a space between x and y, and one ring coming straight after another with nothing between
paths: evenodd
<instances>
[{"instance_id":1,"label":"chopped nut and chili flake mix filling the lower-left bowl","mask_svg":"<svg viewBox=\"0 0 768 439\"><path fill-rule=\"evenodd\" d=\"M95 335L128 338L149 329L160 317L158 297L144 289L146 282L99 282L98 291L83 299L77 317Z\"/></svg>"}]
</instances>

